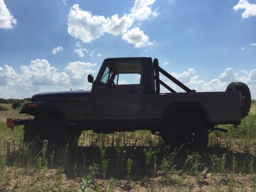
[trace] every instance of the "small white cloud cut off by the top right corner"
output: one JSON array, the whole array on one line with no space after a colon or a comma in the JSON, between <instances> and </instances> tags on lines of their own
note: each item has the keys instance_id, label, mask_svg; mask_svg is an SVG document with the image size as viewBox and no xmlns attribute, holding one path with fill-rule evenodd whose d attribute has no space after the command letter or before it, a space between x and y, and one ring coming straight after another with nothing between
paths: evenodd
<instances>
[{"instance_id":1,"label":"small white cloud cut off by the top right corner","mask_svg":"<svg viewBox=\"0 0 256 192\"><path fill-rule=\"evenodd\" d=\"M235 11L244 9L244 12L242 12L242 18L256 16L256 4L250 4L247 0L239 0L238 4L234 6L233 9Z\"/></svg>"}]
</instances>

